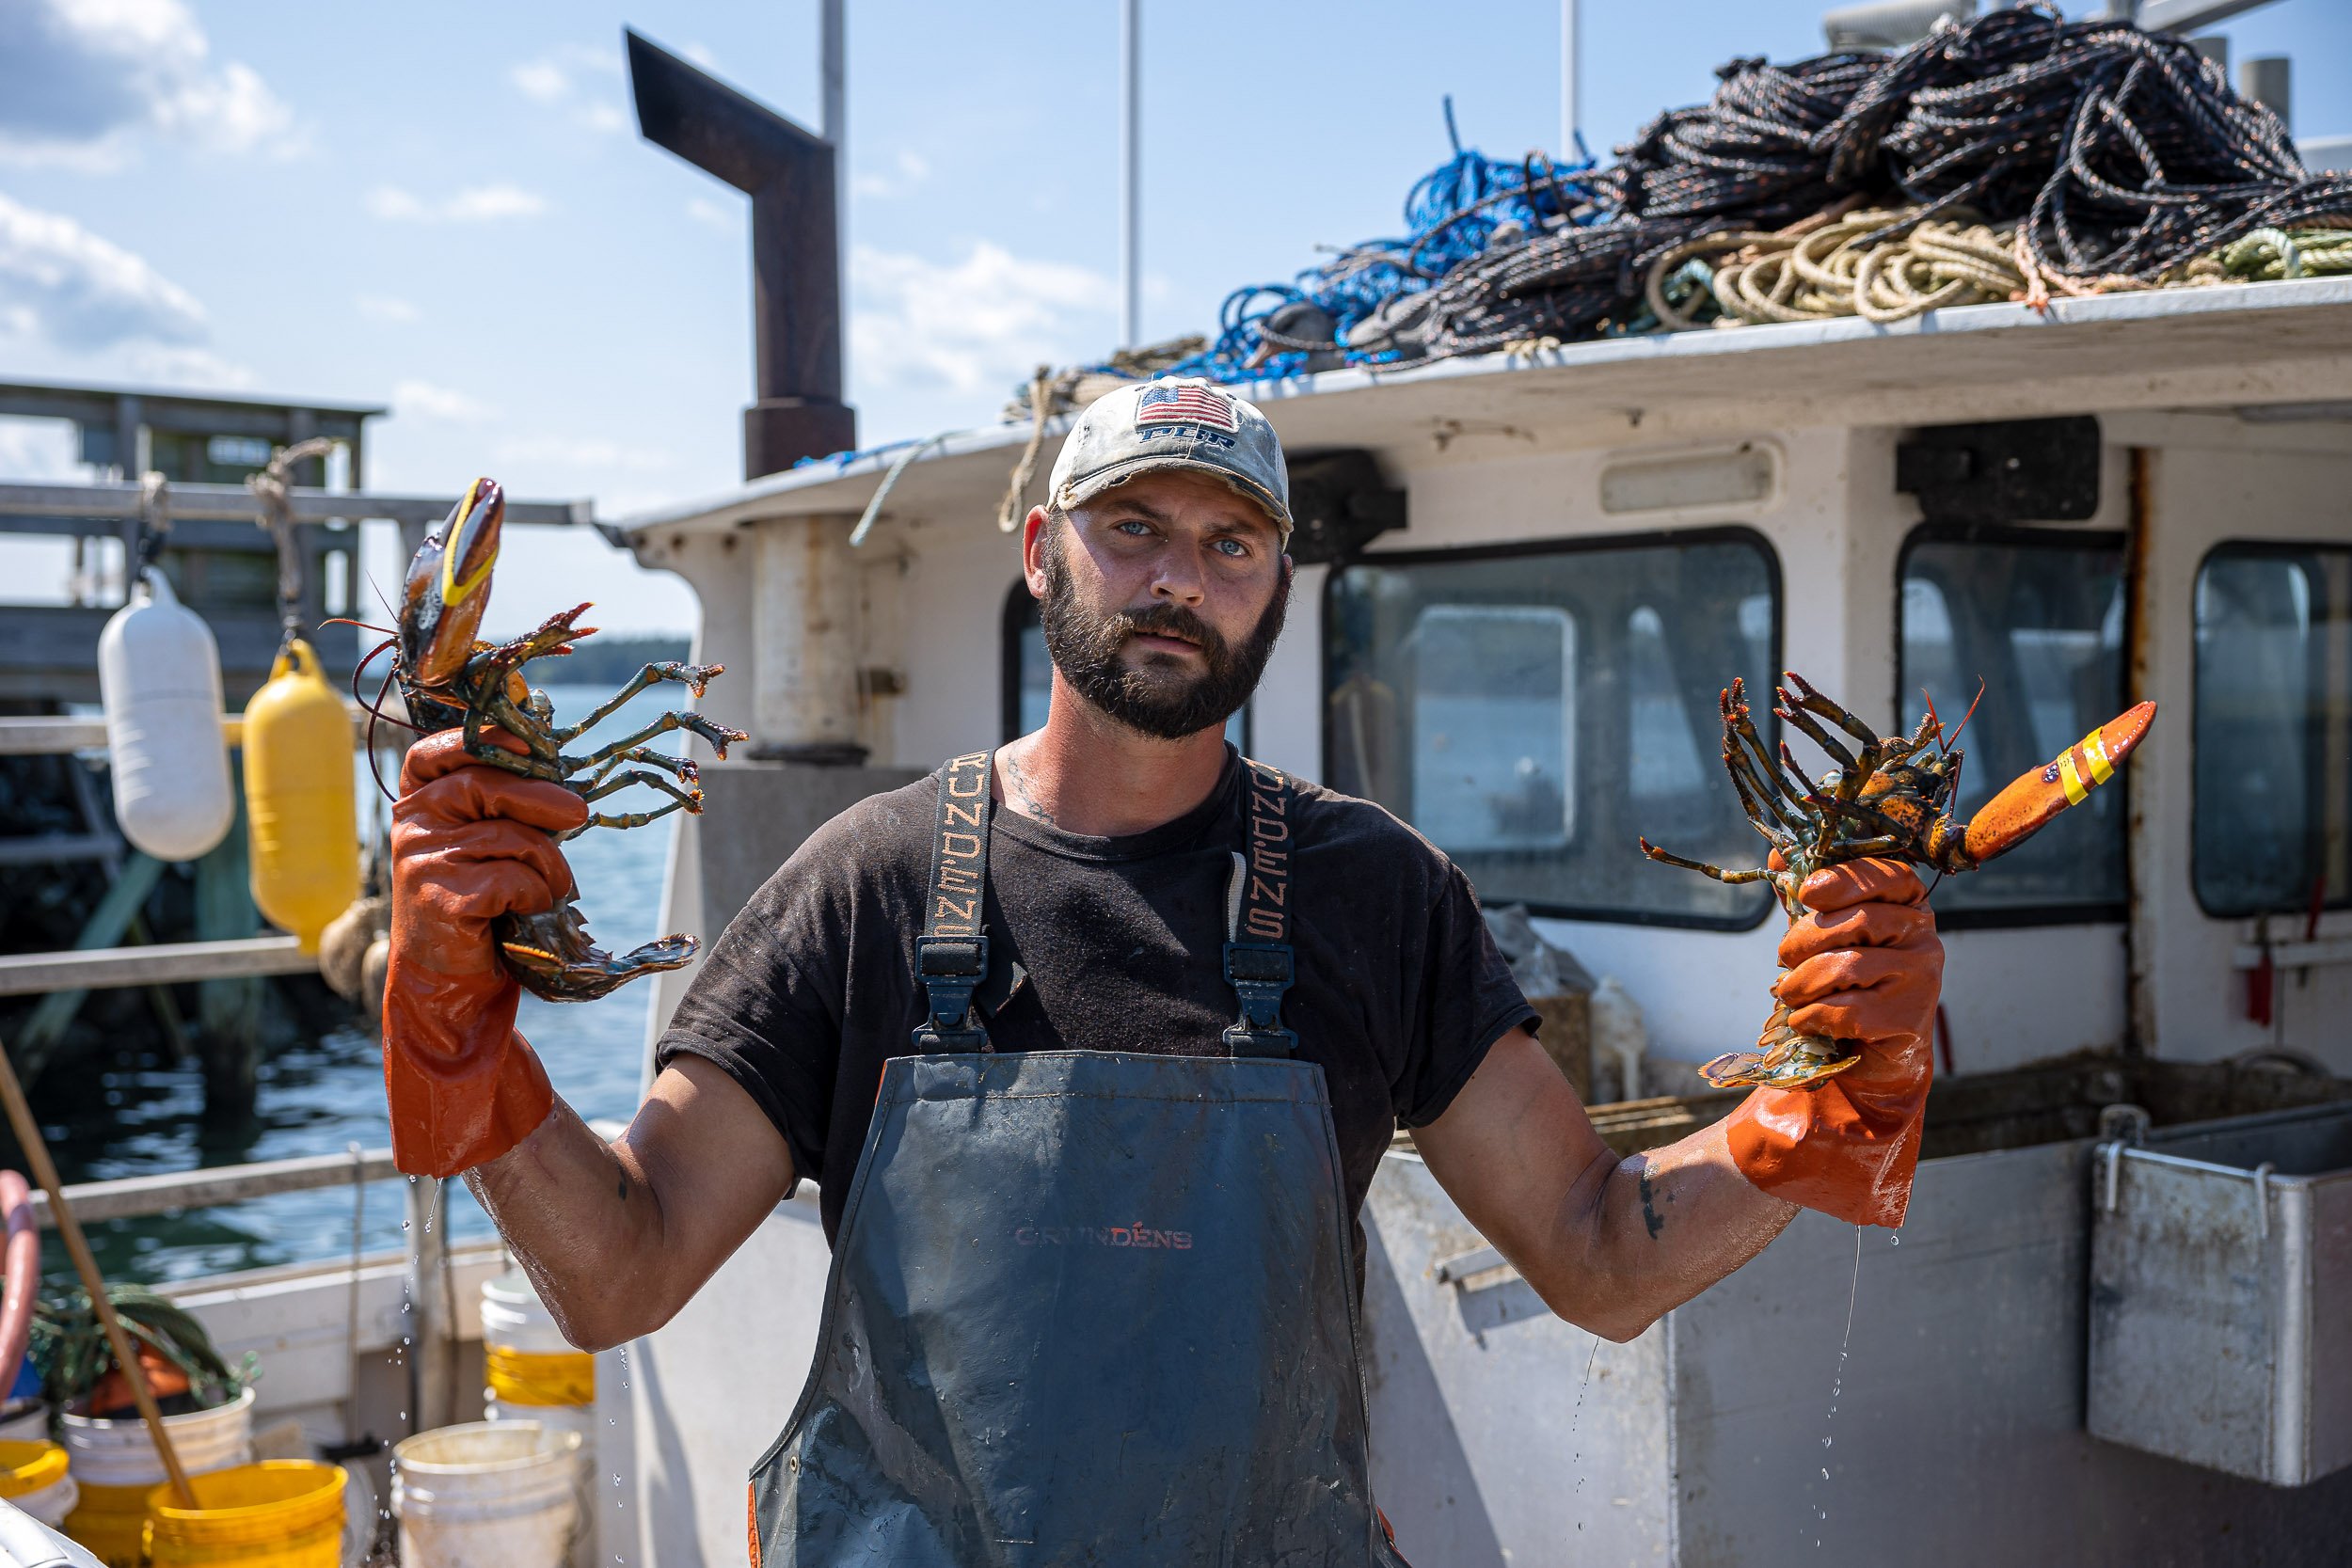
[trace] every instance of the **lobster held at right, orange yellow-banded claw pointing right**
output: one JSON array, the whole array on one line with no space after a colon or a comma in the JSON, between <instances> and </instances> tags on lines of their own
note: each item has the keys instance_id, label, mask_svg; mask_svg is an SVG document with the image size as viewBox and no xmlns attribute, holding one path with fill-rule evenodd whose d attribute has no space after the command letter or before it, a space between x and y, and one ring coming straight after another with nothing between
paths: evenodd
<instances>
[{"instance_id":1,"label":"lobster held at right, orange yellow-banded claw pointing right","mask_svg":"<svg viewBox=\"0 0 2352 1568\"><path fill-rule=\"evenodd\" d=\"M1910 736L1882 738L1851 712L1816 691L1795 670L1783 670L1785 686L1773 686L1773 717L1806 736L1837 766L1820 778L1806 778L1788 741L1778 757L1764 750L1748 693L1733 679L1722 693L1724 771L1740 797L1740 809L1771 844L1769 865L1724 870L1705 860L1668 853L1642 839L1642 853L1665 865L1703 872L1717 882L1766 882L1780 907L1795 922L1804 914L1797 889L1825 865L1886 858L1926 865L1938 872L1969 872L2032 837L2067 806L2114 778L2157 717L2154 703L2140 703L2100 724L2046 766L2018 776L1969 820L1952 818L1964 752L1955 745L1969 726L1962 715L1950 736L1936 717L1933 701ZM1849 750L1828 726L1846 733ZM1788 1009L1773 1006L1755 1051L1726 1051L1698 1072L1717 1088L1818 1088L1860 1060L1851 1041L1799 1034L1788 1023Z\"/></svg>"}]
</instances>

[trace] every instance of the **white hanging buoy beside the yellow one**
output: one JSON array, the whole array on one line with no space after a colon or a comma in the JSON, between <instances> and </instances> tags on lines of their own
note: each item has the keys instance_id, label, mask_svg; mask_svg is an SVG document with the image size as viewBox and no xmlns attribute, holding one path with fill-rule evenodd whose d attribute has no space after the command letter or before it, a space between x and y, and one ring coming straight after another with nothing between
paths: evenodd
<instances>
[{"instance_id":1,"label":"white hanging buoy beside the yellow one","mask_svg":"<svg viewBox=\"0 0 2352 1568\"><path fill-rule=\"evenodd\" d=\"M143 574L99 632L99 698L122 837L158 860L212 851L238 820L221 741L221 651L160 571Z\"/></svg>"}]
</instances>

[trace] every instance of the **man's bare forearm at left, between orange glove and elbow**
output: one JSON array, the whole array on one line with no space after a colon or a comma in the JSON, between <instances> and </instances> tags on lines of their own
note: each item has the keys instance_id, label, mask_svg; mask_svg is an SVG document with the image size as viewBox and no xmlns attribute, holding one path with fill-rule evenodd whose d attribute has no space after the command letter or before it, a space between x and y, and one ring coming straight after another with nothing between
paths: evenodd
<instances>
[{"instance_id":1,"label":"man's bare forearm at left, between orange glove and elbow","mask_svg":"<svg viewBox=\"0 0 2352 1568\"><path fill-rule=\"evenodd\" d=\"M675 1312L661 1300L654 1182L626 1143L597 1138L560 1098L529 1138L466 1171L466 1185L574 1345L604 1349Z\"/></svg>"}]
</instances>

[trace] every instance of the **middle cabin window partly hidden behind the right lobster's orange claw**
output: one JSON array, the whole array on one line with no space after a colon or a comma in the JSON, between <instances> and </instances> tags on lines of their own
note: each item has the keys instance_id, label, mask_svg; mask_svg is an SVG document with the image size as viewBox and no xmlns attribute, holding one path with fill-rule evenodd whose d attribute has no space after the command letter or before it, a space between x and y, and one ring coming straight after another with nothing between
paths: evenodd
<instances>
[{"instance_id":1,"label":"middle cabin window partly hidden behind the right lobster's orange claw","mask_svg":"<svg viewBox=\"0 0 2352 1568\"><path fill-rule=\"evenodd\" d=\"M1926 527L1903 550L1900 583L1903 726L1929 701L1945 729L1976 703L1959 738L1959 820L2131 705L2119 534ZM1945 879L1936 914L1947 926L2122 919L2124 853L2117 778L1999 860Z\"/></svg>"}]
</instances>

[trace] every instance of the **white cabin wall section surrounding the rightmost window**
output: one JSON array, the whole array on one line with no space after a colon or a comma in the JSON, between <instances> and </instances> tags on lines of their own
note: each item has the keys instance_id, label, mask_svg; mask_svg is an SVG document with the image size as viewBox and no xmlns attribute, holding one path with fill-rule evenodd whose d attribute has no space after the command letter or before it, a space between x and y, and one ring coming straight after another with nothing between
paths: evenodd
<instances>
[{"instance_id":1,"label":"white cabin wall section surrounding the rightmost window","mask_svg":"<svg viewBox=\"0 0 2352 1568\"><path fill-rule=\"evenodd\" d=\"M2256 936L2251 919L2213 919L2197 905L2190 867L2194 733L2194 590L2204 555L2223 541L2352 543L2352 454L2256 449L2260 433L2169 433L2150 463L2150 576L2143 637L2157 729L2131 766L2143 966L2143 1044L2161 1058L2220 1060L2272 1044L2246 1018L2246 976L2232 954ZM2336 425L2340 430L2340 425ZM2293 435L2291 430L2281 435ZM2211 442L2211 444L2206 444ZM2277 442L2284 447L2286 442ZM2331 896L2340 896L2331 889ZM2293 926L2293 929L2288 929ZM2300 938L2300 922L2272 922L2272 938ZM2319 938L2352 936L2352 910L2328 910ZM2279 987L2277 1039L2352 1074L2352 966L2288 971Z\"/></svg>"}]
</instances>

